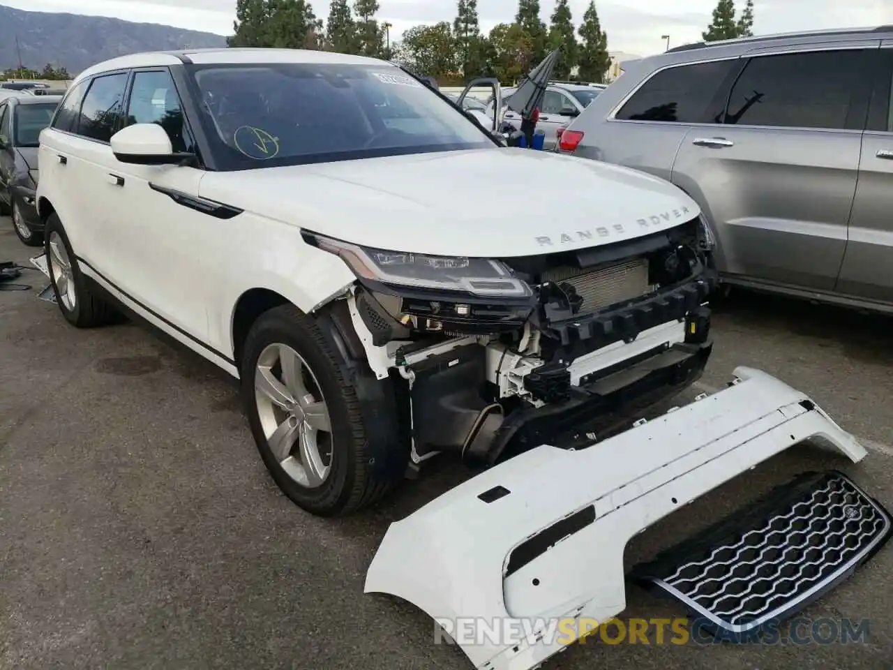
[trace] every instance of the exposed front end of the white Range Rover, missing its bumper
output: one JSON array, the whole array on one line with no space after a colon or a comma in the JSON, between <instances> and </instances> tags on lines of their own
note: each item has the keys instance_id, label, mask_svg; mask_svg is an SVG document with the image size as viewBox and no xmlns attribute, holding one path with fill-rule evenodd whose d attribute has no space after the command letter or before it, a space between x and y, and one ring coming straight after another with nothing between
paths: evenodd
<instances>
[{"instance_id":1,"label":"exposed front end of the white Range Rover, missing its bumper","mask_svg":"<svg viewBox=\"0 0 893 670\"><path fill-rule=\"evenodd\" d=\"M529 296L457 298L361 280L348 297L373 372L409 405L416 464L448 451L493 465L543 435L567 448L591 443L703 370L715 273L699 219L630 242L498 260Z\"/></svg>"}]
</instances>

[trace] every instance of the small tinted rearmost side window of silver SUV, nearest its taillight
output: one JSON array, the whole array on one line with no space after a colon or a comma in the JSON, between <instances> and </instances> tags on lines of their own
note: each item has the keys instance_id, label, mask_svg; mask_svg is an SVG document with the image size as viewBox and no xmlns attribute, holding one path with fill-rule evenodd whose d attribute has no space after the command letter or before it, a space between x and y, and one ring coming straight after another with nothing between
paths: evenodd
<instances>
[{"instance_id":1,"label":"small tinted rearmost side window of silver SUV, nearest its taillight","mask_svg":"<svg viewBox=\"0 0 893 670\"><path fill-rule=\"evenodd\" d=\"M678 65L658 71L614 116L621 121L718 123L725 96L717 96L737 59ZM717 99L722 99L716 107Z\"/></svg>"}]
</instances>

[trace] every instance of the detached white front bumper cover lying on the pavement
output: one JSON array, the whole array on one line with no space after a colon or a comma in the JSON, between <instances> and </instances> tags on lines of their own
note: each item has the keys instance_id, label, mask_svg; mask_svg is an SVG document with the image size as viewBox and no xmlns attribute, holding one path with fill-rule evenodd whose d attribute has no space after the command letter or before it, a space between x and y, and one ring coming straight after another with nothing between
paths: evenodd
<instances>
[{"instance_id":1,"label":"detached white front bumper cover lying on the pavement","mask_svg":"<svg viewBox=\"0 0 893 670\"><path fill-rule=\"evenodd\" d=\"M810 438L866 452L803 393L747 367L730 388L579 451L543 445L392 523L365 591L437 621L527 631L530 622L607 621L626 607L623 551L638 532ZM530 670L572 640L457 640L477 668Z\"/></svg>"}]
</instances>

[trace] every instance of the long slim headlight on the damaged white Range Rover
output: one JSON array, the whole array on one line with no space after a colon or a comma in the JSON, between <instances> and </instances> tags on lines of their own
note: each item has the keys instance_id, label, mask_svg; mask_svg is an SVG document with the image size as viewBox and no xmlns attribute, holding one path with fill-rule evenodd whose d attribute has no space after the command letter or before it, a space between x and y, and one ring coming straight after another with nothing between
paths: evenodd
<instances>
[{"instance_id":1,"label":"long slim headlight on the damaged white Range Rover","mask_svg":"<svg viewBox=\"0 0 893 670\"><path fill-rule=\"evenodd\" d=\"M317 245L339 255L363 279L417 289L466 291L478 297L530 297L530 287L499 261L436 256L358 247L313 236Z\"/></svg>"}]
</instances>

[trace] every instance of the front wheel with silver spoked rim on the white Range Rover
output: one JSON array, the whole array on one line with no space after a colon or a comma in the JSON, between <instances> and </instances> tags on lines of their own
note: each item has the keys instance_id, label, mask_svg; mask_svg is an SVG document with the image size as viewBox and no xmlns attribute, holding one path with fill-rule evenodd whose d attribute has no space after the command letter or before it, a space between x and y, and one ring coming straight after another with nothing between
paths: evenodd
<instances>
[{"instance_id":1,"label":"front wheel with silver spoked rim on the white Range Rover","mask_svg":"<svg viewBox=\"0 0 893 670\"><path fill-rule=\"evenodd\" d=\"M294 360L293 355L298 356L302 368L309 369L309 374L305 370L301 375L303 383L298 388L303 386L303 389L294 394L289 391L292 396L304 390L309 392L312 398L305 396L306 415L304 409L296 410L297 416L289 415L278 406L272 409L275 405L255 389L255 375L267 373L273 374L280 389L295 388L295 383L285 385L281 381L286 377L281 373L282 356ZM279 363L268 368L276 356ZM292 305L274 307L262 314L248 332L241 356L242 402L263 463L280 490L313 515L349 515L378 501L395 483L380 481L371 473L373 459L350 365L316 320ZM319 402L328 411L328 423L320 423L319 412L312 409ZM291 421L291 426L302 421L307 425L328 424L330 432L316 430L311 434L309 429L295 429L299 436L294 445L280 448L272 431L276 426L279 426L276 430L288 430L283 429L284 421ZM317 446L318 459L303 456L307 445L313 451L311 442ZM305 467L305 460L323 466L328 460L328 470L321 476L321 468Z\"/></svg>"}]
</instances>

